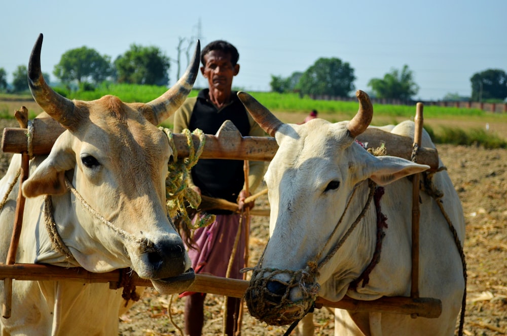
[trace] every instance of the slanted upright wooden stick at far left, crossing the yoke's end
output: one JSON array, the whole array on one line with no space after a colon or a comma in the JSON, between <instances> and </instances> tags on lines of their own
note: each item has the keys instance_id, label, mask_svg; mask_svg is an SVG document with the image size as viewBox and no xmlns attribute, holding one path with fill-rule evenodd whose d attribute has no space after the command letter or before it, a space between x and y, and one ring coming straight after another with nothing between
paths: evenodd
<instances>
[{"instance_id":1,"label":"slanted upright wooden stick at far left, crossing the yoke's end","mask_svg":"<svg viewBox=\"0 0 507 336\"><path fill-rule=\"evenodd\" d=\"M28 127L28 110L23 106L20 111L14 112L14 117L18 121L19 127ZM30 157L27 152L21 153L21 173L19 179L18 198L16 200L16 212L14 215L14 227L11 236L11 245L7 252L7 264L12 265L16 262L16 253L18 251L19 237L21 236L21 226L23 224L23 212L25 209L25 197L23 196L23 182L28 178L28 166ZM2 316L6 319L11 317L12 308L12 279L4 279L4 299L2 302Z\"/></svg>"}]
</instances>

